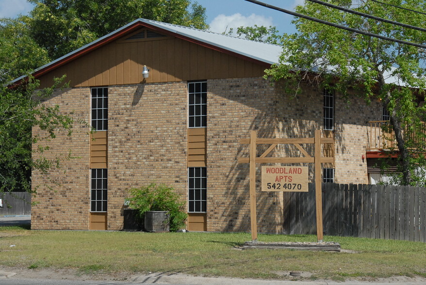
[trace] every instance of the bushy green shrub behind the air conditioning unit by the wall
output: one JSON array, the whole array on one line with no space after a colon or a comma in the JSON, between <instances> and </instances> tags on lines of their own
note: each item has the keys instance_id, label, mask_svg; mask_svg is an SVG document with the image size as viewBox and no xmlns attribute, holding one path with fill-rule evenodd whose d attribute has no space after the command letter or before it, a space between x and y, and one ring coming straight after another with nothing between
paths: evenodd
<instances>
[{"instance_id":1,"label":"bushy green shrub behind the air conditioning unit by the wall","mask_svg":"<svg viewBox=\"0 0 426 285\"><path fill-rule=\"evenodd\" d=\"M170 231L177 231L185 227L187 214L185 213L185 202L180 201L179 194L172 187L164 184L151 183L141 188L130 190L129 206L139 210L142 221L147 211L168 211Z\"/></svg>"}]
</instances>

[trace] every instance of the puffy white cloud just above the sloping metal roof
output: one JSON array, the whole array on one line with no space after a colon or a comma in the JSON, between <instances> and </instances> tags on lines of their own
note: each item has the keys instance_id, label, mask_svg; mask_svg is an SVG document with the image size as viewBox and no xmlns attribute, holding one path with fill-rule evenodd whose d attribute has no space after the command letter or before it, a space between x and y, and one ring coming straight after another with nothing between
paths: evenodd
<instances>
[{"instance_id":1,"label":"puffy white cloud just above the sloping metal roof","mask_svg":"<svg viewBox=\"0 0 426 285\"><path fill-rule=\"evenodd\" d=\"M251 14L250 16L243 16L240 13L236 13L230 16L225 16L220 14L216 16L213 21L209 24L211 32L229 32L229 29L232 28L234 32L238 27L241 26L274 26L272 22L272 17L265 17L256 14Z\"/></svg>"}]
</instances>

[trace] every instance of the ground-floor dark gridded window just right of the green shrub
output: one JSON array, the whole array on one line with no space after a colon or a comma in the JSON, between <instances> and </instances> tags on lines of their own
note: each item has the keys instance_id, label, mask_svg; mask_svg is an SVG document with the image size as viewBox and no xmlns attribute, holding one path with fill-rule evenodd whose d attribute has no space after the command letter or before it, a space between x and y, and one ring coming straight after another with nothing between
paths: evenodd
<instances>
[{"instance_id":1,"label":"ground-floor dark gridded window just right of the green shrub","mask_svg":"<svg viewBox=\"0 0 426 285\"><path fill-rule=\"evenodd\" d=\"M207 168L188 168L188 212L207 212Z\"/></svg>"}]
</instances>

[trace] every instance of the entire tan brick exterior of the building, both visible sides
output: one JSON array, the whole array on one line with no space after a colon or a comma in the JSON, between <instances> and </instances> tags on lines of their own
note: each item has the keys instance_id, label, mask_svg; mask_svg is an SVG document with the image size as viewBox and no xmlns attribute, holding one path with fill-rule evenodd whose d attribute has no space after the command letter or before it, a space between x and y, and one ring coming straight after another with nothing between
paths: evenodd
<instances>
[{"instance_id":1,"label":"entire tan brick exterior of the building, both visible sides","mask_svg":"<svg viewBox=\"0 0 426 285\"><path fill-rule=\"evenodd\" d=\"M187 195L187 83L168 82L109 86L108 130L108 229L123 226L124 199L128 190L151 182L175 188ZM304 86L302 95L282 92L262 78L208 80L207 168L208 231L250 231L248 156L250 130L258 137L312 137L323 126L322 92ZM90 89L75 88L52 97L47 104L74 111L74 117L89 122ZM366 106L352 100L349 108L336 96L336 182L365 183L365 121L380 120L379 102ZM52 140L50 156L67 153L79 159L63 163L49 173L53 190L43 186L46 177L33 174L40 185L33 207L33 228L88 229L90 211L89 135L78 127L71 138ZM38 131L34 130L34 134ZM267 146L258 147L258 155ZM307 149L311 151L310 148ZM300 156L295 148L280 145L274 156ZM282 232L283 197L280 192L262 192L257 168L258 230ZM66 172L64 173L64 170Z\"/></svg>"}]
</instances>

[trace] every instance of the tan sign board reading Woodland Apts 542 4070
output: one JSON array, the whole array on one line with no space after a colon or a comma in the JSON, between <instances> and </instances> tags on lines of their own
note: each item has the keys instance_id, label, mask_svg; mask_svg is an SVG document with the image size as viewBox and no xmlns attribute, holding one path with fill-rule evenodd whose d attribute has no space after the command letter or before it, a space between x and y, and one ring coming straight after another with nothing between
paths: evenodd
<instances>
[{"instance_id":1,"label":"tan sign board reading Woodland Apts 542 4070","mask_svg":"<svg viewBox=\"0 0 426 285\"><path fill-rule=\"evenodd\" d=\"M262 191L308 192L308 167L262 166Z\"/></svg>"}]
</instances>

